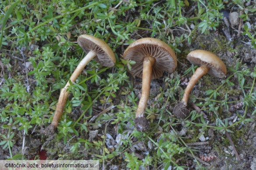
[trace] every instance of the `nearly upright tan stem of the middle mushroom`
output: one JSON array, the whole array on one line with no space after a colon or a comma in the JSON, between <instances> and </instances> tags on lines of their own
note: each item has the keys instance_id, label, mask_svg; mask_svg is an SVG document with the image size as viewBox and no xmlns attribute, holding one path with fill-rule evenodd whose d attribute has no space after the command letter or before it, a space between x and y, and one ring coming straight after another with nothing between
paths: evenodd
<instances>
[{"instance_id":1,"label":"nearly upright tan stem of the middle mushroom","mask_svg":"<svg viewBox=\"0 0 256 170\"><path fill-rule=\"evenodd\" d=\"M147 100L149 97L150 91L150 82L152 79L152 66L154 65L155 58L147 56L143 61L143 73L142 73L142 93L140 97L140 102L136 112L137 117L144 117L144 112L147 106Z\"/></svg>"}]
</instances>

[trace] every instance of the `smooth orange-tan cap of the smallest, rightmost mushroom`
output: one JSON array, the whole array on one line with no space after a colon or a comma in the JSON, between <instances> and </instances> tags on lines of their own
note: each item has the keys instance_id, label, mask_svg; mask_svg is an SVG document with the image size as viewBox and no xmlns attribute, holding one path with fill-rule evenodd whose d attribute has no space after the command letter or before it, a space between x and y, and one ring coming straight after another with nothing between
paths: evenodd
<instances>
[{"instance_id":1,"label":"smooth orange-tan cap of the smallest, rightmost mushroom","mask_svg":"<svg viewBox=\"0 0 256 170\"><path fill-rule=\"evenodd\" d=\"M212 52L204 50L191 51L187 59L194 65L206 65L209 67L209 75L223 78L227 74L227 68L224 62Z\"/></svg>"}]
</instances>

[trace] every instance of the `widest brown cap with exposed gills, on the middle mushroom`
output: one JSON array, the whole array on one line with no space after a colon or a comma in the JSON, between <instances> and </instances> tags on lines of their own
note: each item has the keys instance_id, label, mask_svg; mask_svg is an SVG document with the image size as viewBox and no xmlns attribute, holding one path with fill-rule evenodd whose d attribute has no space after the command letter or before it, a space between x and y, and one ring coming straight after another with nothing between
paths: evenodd
<instances>
[{"instance_id":1,"label":"widest brown cap with exposed gills, on the middle mushroom","mask_svg":"<svg viewBox=\"0 0 256 170\"><path fill-rule=\"evenodd\" d=\"M176 55L168 44L155 38L141 38L130 44L123 54L124 59L136 62L130 71L133 76L142 78L143 61L147 56L155 58L152 79L161 77L163 71L174 71L177 66Z\"/></svg>"}]
</instances>

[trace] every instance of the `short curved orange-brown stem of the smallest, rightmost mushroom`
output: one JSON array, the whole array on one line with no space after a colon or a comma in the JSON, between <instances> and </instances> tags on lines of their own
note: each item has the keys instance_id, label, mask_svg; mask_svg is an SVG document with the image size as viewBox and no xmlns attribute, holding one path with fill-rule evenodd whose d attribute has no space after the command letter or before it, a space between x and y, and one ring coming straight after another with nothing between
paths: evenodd
<instances>
[{"instance_id":1,"label":"short curved orange-brown stem of the smallest, rightmost mushroom","mask_svg":"<svg viewBox=\"0 0 256 170\"><path fill-rule=\"evenodd\" d=\"M189 80L189 83L185 89L183 98L182 98L182 102L184 103L185 106L187 106L187 104L188 104L189 94L190 94L191 90L193 89L194 85L208 71L209 71L209 67L207 67L206 65L202 65L199 68L197 68L196 71L194 72L194 74L192 75L192 77Z\"/></svg>"}]
</instances>

